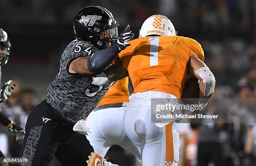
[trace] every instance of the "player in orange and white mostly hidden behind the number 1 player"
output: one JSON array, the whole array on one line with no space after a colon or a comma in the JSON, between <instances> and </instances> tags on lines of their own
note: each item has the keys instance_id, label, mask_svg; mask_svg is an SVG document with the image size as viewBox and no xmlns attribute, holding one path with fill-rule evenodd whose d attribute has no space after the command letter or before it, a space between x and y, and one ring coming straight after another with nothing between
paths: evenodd
<instances>
[{"instance_id":1,"label":"player in orange and white mostly hidden behind the number 1 player","mask_svg":"<svg viewBox=\"0 0 256 166\"><path fill-rule=\"evenodd\" d=\"M141 159L137 147L123 130L123 114L129 102L129 96L128 77L125 77L110 87L94 111L87 117L87 121L92 124L92 133L86 137L95 153L105 156L111 146L118 145Z\"/></svg>"}]
</instances>

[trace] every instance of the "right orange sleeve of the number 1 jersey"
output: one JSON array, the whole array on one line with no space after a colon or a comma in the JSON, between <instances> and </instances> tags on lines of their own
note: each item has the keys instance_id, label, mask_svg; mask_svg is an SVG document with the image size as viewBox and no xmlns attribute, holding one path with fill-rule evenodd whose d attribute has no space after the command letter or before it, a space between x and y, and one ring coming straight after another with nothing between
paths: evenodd
<instances>
[{"instance_id":1,"label":"right orange sleeve of the number 1 jersey","mask_svg":"<svg viewBox=\"0 0 256 166\"><path fill-rule=\"evenodd\" d=\"M205 54L200 43L190 38L186 38L186 41L187 41L186 49L187 49L187 52L189 53L189 57L196 54L199 57L199 59L204 62Z\"/></svg>"}]
</instances>

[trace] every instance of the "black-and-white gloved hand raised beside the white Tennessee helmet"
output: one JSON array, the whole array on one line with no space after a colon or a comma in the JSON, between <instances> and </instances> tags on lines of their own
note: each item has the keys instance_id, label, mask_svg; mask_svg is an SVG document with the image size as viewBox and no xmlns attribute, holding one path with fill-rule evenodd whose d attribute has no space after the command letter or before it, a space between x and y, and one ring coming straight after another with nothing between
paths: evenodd
<instances>
[{"instance_id":1,"label":"black-and-white gloved hand raised beside the white Tennessee helmet","mask_svg":"<svg viewBox=\"0 0 256 166\"><path fill-rule=\"evenodd\" d=\"M128 41L132 40L134 37L134 34L130 30L130 25L127 25L125 27L125 30L123 30L118 38L117 45L118 49L124 50L126 47L130 46L131 43L128 43Z\"/></svg>"}]
</instances>

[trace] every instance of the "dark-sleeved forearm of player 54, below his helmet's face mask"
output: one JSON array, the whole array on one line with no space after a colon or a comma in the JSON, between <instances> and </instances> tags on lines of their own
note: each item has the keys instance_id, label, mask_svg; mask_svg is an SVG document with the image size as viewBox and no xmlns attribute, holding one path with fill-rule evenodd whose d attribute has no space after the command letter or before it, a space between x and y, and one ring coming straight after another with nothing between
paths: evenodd
<instances>
[{"instance_id":1,"label":"dark-sleeved forearm of player 54, below his helmet's face mask","mask_svg":"<svg viewBox=\"0 0 256 166\"><path fill-rule=\"evenodd\" d=\"M119 52L120 50L115 44L105 50L96 51L87 59L87 68L92 73L100 72L113 61Z\"/></svg>"}]
</instances>

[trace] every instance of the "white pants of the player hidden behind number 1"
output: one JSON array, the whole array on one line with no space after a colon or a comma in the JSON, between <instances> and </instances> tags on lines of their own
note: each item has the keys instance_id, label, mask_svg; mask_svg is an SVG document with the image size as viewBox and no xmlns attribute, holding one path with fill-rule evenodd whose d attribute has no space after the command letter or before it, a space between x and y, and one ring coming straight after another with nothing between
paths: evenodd
<instances>
[{"instance_id":1,"label":"white pants of the player hidden behind number 1","mask_svg":"<svg viewBox=\"0 0 256 166\"><path fill-rule=\"evenodd\" d=\"M101 156L105 156L111 146L118 145L141 160L140 151L123 130L124 108L116 107L92 111L87 118L87 121L92 124L92 133L86 137L94 152Z\"/></svg>"}]
</instances>

